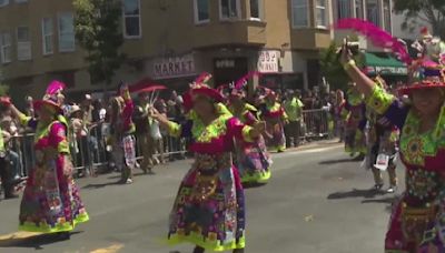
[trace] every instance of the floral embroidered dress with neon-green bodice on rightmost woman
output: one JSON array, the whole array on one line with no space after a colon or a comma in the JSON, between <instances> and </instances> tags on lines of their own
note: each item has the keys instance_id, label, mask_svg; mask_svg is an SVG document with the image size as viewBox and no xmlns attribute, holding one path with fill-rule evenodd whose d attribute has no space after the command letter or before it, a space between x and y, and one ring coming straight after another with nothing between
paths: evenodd
<instances>
[{"instance_id":1,"label":"floral embroidered dress with neon-green bodice on rightmost woman","mask_svg":"<svg viewBox=\"0 0 445 253\"><path fill-rule=\"evenodd\" d=\"M445 105L435 129L419 133L421 120L411 107L382 88L367 104L402 130L406 191L390 217L386 252L445 252Z\"/></svg>"}]
</instances>

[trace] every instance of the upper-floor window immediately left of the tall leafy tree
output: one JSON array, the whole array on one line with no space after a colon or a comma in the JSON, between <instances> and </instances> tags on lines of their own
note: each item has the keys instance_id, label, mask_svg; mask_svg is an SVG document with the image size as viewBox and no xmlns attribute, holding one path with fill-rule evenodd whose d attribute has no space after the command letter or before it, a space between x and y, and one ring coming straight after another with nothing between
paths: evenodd
<instances>
[{"instance_id":1,"label":"upper-floor window immediately left of the tall leafy tree","mask_svg":"<svg viewBox=\"0 0 445 253\"><path fill-rule=\"evenodd\" d=\"M72 12L59 14L59 51L75 51L75 26Z\"/></svg>"}]
</instances>

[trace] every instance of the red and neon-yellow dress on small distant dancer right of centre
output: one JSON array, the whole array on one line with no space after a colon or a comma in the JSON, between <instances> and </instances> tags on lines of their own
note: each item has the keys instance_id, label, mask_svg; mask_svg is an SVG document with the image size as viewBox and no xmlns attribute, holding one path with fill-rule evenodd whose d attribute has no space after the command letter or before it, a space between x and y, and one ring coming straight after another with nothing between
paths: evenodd
<instances>
[{"instance_id":1,"label":"red and neon-yellow dress on small distant dancer right of centre","mask_svg":"<svg viewBox=\"0 0 445 253\"><path fill-rule=\"evenodd\" d=\"M285 151L286 136L284 122L287 120L287 114L278 102L274 104L265 103L261 107L261 118L266 121L266 144L270 150Z\"/></svg>"}]
</instances>

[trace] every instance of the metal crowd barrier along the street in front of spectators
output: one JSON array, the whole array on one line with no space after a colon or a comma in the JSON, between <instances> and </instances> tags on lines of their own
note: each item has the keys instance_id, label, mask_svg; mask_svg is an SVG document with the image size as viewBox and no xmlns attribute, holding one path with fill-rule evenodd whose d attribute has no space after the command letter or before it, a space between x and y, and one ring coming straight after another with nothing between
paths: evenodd
<instances>
[{"instance_id":1,"label":"metal crowd barrier along the street in front of spectators","mask_svg":"<svg viewBox=\"0 0 445 253\"><path fill-rule=\"evenodd\" d=\"M303 111L301 138L305 140L328 138L328 113L329 112L324 109ZM33 136L34 134L29 133L14 136L12 140L11 150L19 156L18 173L22 178L28 175L36 161ZM109 136L110 131L108 123L91 125L86 136L78 138L73 134L69 136L75 173L95 175L100 169L110 169L112 165L112 151L107 141ZM167 159L185 159L187 154L187 143L188 140L186 139L177 139L162 134L162 141L159 144L161 146L156 152L155 156L160 161L166 161ZM137 160L140 162L144 159L141 146L138 145L138 142L136 142L136 144Z\"/></svg>"}]
</instances>

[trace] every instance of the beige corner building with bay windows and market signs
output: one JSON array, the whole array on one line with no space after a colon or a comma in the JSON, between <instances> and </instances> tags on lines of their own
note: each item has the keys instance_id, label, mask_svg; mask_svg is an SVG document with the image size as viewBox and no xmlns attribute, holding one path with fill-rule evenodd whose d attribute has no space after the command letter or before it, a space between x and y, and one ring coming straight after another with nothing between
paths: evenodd
<instances>
[{"instance_id":1,"label":"beige corner building with bay windows and market signs","mask_svg":"<svg viewBox=\"0 0 445 253\"><path fill-rule=\"evenodd\" d=\"M379 12L385 8L386 0L367 1L377 1ZM334 39L329 28L340 2L122 0L128 59L115 83L154 80L182 90L202 71L214 73L215 84L259 71L264 85L316 85L318 52ZM366 17L366 4L358 10L357 1L348 2L348 13ZM52 79L71 92L102 88L90 83L85 53L75 41L72 11L70 0L0 0L0 78L12 92L40 95ZM374 18L373 11L368 17ZM386 26L385 16L378 17Z\"/></svg>"}]
</instances>

